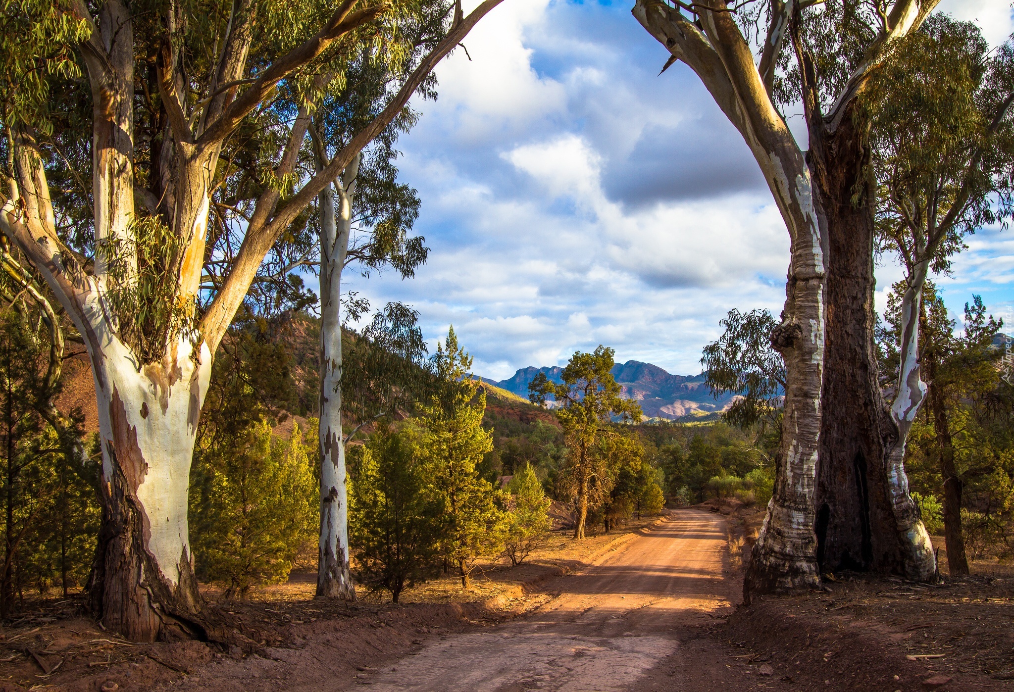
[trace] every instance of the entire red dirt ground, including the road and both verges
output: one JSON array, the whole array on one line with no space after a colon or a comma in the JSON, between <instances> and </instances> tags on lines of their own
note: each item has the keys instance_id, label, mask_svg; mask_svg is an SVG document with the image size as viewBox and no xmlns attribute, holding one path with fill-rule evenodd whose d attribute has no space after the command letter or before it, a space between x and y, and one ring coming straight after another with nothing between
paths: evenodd
<instances>
[{"instance_id":1,"label":"entire red dirt ground, including the road and both verges","mask_svg":"<svg viewBox=\"0 0 1014 692\"><path fill-rule=\"evenodd\" d=\"M448 578L400 606L349 607L314 600L297 572L213 603L257 651L132 644L74 599L40 602L0 627L0 692L1014 689L1014 580L839 574L828 591L736 607L763 512L697 510L583 543L557 532L529 564L484 567L466 595Z\"/></svg>"}]
</instances>

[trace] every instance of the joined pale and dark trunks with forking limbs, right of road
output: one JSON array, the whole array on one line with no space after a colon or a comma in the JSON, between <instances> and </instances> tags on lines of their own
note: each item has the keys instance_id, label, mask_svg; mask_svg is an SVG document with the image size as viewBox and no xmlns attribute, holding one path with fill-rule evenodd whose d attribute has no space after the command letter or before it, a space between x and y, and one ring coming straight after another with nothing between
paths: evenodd
<instances>
[{"instance_id":1,"label":"joined pale and dark trunks with forking limbs, right of road","mask_svg":"<svg viewBox=\"0 0 1014 692\"><path fill-rule=\"evenodd\" d=\"M751 592L817 586L818 543L821 559L827 558L828 544L836 556L844 555L846 546L858 548L860 555L879 550L878 563L903 565L910 575L925 573L925 530L908 495L899 459L888 460L885 454L886 441L898 439L898 434L876 387L872 322L867 319L871 313L864 310L872 307L872 216L859 218L852 198L855 183L868 185L863 182L868 153L851 117L855 96L884 47L918 28L934 4L913 0L894 4L826 121L819 113L812 65L799 57L802 49L793 33L797 57L806 63L801 74L811 156L805 161L770 95L778 51L795 3L773 5L759 68L722 0L694 5L696 21L660 0L637 0L633 9L672 60L682 61L697 73L742 135L792 240L785 310L772 334L772 344L786 365L785 416L774 493L743 584L747 600ZM825 137L825 129L837 134ZM812 150L821 146L832 151L821 150L814 158ZM859 237L853 233L854 223L860 224ZM835 292L834 301L823 293L825 252L836 267L836 276L826 284L826 290ZM834 335L825 334L825 300ZM834 339L832 352L825 351L825 336L828 343ZM835 372L829 375L826 358L834 361ZM855 367L850 358L858 359ZM830 392L822 392L827 386ZM852 401L850 386L858 388L858 397ZM850 432L853 427L859 432ZM825 432L829 438L821 439L818 446L818 436ZM824 453L834 454L832 460L818 461ZM817 477L823 481L820 492L827 499L819 512L814 507ZM873 512L870 530L865 528L870 517L867 506ZM846 516L847 508L862 511ZM866 538L874 530L878 532L876 545ZM864 547L867 543L872 547Z\"/></svg>"}]
</instances>

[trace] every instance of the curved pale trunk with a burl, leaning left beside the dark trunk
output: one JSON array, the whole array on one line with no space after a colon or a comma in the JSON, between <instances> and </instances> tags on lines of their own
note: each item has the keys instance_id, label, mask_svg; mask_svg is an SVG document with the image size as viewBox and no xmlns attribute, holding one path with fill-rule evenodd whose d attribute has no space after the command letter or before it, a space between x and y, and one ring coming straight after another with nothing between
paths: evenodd
<instances>
[{"instance_id":1,"label":"curved pale trunk with a burl, leaning left beside the dark trunk","mask_svg":"<svg viewBox=\"0 0 1014 692\"><path fill-rule=\"evenodd\" d=\"M786 365L783 434L774 493L744 589L813 587L819 580L812 496L820 431L824 267L810 171L768 98L752 56L728 12L707 12L705 30L658 0L637 0L633 13L674 59L698 74L739 130L789 231L785 310L772 334L772 343Z\"/></svg>"}]
</instances>

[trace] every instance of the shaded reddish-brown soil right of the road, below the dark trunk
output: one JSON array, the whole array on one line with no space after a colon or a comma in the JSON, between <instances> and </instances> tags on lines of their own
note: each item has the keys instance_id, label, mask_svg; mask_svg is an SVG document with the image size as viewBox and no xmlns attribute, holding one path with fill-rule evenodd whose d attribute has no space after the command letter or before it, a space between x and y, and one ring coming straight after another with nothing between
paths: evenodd
<instances>
[{"instance_id":1,"label":"shaded reddish-brown soil right of the road, below the dark trunk","mask_svg":"<svg viewBox=\"0 0 1014 692\"><path fill-rule=\"evenodd\" d=\"M730 517L733 554L747 555L764 511L710 506ZM940 558L942 585L843 573L824 592L754 599L715 635L738 649L733 668L770 667L758 680L772 689L1014 689L1014 574L994 560L952 580Z\"/></svg>"}]
</instances>

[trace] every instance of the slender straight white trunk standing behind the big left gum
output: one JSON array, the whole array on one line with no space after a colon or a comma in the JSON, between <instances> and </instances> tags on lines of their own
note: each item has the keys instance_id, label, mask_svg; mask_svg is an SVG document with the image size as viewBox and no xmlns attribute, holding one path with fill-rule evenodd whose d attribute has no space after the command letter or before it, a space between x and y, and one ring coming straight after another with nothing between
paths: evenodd
<instances>
[{"instance_id":1,"label":"slender straight white trunk standing behind the big left gum","mask_svg":"<svg viewBox=\"0 0 1014 692\"><path fill-rule=\"evenodd\" d=\"M357 155L335 180L320 207L320 544L317 596L355 600L349 570L349 508L342 431L342 270L352 230L352 203L359 172Z\"/></svg>"}]
</instances>

